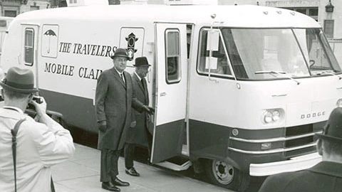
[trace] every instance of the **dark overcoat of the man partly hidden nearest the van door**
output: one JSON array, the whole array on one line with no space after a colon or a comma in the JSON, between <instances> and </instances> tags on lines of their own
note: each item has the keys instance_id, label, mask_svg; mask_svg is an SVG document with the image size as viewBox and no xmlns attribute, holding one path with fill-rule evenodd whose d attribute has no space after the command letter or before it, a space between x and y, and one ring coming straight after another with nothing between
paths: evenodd
<instances>
[{"instance_id":1,"label":"dark overcoat of the man partly hidden nearest the van door","mask_svg":"<svg viewBox=\"0 0 342 192\"><path fill-rule=\"evenodd\" d=\"M149 105L147 85L142 85L138 76L133 73L133 90L135 91L136 98L142 102L144 105ZM147 134L148 134L148 122L149 116L146 112L138 112L133 109L132 121L136 122L135 125L128 129L126 142L130 144L139 144L141 146L148 146L147 144Z\"/></svg>"}]
</instances>

